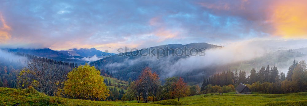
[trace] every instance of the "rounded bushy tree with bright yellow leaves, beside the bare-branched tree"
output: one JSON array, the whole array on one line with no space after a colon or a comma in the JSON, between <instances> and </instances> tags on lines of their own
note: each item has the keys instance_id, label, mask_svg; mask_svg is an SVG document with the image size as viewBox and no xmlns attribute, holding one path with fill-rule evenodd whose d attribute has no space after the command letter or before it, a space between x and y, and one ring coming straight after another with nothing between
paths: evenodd
<instances>
[{"instance_id":1,"label":"rounded bushy tree with bright yellow leaves, beside the bare-branched tree","mask_svg":"<svg viewBox=\"0 0 307 106\"><path fill-rule=\"evenodd\" d=\"M88 64L72 69L64 82L64 93L72 98L85 100L105 100L109 94L100 71Z\"/></svg>"}]
</instances>

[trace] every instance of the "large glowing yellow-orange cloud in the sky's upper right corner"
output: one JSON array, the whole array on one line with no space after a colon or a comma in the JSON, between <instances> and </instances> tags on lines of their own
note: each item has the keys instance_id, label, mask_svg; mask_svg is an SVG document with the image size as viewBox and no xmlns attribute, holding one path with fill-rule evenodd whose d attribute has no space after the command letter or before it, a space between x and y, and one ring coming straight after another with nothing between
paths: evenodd
<instances>
[{"instance_id":1,"label":"large glowing yellow-orange cloud in the sky's upper right corner","mask_svg":"<svg viewBox=\"0 0 307 106\"><path fill-rule=\"evenodd\" d=\"M271 21L275 35L284 38L307 38L307 2L305 0L278 1L272 7Z\"/></svg>"}]
</instances>

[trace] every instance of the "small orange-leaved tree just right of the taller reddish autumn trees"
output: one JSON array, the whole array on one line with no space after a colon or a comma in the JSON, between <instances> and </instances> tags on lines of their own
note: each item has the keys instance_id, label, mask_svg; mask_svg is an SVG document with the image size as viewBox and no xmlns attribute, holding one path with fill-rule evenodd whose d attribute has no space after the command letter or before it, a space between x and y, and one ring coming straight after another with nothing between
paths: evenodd
<instances>
[{"instance_id":1,"label":"small orange-leaved tree just right of the taller reddish autumn trees","mask_svg":"<svg viewBox=\"0 0 307 106\"><path fill-rule=\"evenodd\" d=\"M188 94L188 86L187 83L183 81L183 78L179 78L179 80L172 85L174 90L171 92L173 97L178 97L178 101L180 97L187 96Z\"/></svg>"}]
</instances>

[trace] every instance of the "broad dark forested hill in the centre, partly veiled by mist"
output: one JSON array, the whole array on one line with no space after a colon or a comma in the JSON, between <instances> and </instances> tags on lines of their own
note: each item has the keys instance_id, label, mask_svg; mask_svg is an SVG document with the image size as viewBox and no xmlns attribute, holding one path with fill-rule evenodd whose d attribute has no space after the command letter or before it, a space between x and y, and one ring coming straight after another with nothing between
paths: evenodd
<instances>
[{"instance_id":1,"label":"broad dark forested hill in the centre, partly veiled by mist","mask_svg":"<svg viewBox=\"0 0 307 106\"><path fill-rule=\"evenodd\" d=\"M155 46L155 47L150 47L147 48L147 50L142 50L142 54L148 53L148 49L184 49L184 48L205 48L205 49L210 49L210 48L216 48L216 47L221 47L217 45L211 45L208 43L191 43L187 45L182 45L182 44L170 44L170 45L160 45L160 46ZM131 49L131 48L130 48ZM98 61L91 62L91 65L94 65L95 67L98 67L100 69L105 69L108 71L113 72L113 77L117 77L118 79L121 80L128 80L129 78L136 79L142 69L145 67L151 67L153 71L157 72L159 75L163 75L163 67L165 67L167 64L172 64L178 61L181 58L186 58L186 56L161 56L159 59L157 59L157 56L141 56L138 54L140 50L132 51L132 52L125 52L125 53L120 53L118 55L113 55L110 57L103 58ZM187 51L188 52L188 51ZM154 50L152 52L153 54L157 55L157 50ZM172 54L173 51L159 51L159 54ZM125 54L124 56L119 56ZM138 54L136 56L131 56L131 54ZM189 54L189 53L187 53ZM130 55L130 56L128 56ZM165 70L164 70L165 71ZM204 71L204 74L211 73L209 70ZM197 80L197 77L194 77L192 74L198 74L198 73L178 73L178 76L185 77L185 79L190 79L190 80ZM189 77L189 78L187 78ZM200 76L199 76L200 77ZM203 76L201 76L203 77ZM202 79L202 78L201 78Z\"/></svg>"}]
</instances>

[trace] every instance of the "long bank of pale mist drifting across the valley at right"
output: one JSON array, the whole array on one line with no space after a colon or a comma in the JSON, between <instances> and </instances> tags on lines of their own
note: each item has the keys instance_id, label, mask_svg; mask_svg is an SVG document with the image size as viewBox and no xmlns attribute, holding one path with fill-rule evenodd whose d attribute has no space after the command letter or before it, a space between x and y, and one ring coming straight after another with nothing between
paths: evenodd
<instances>
[{"instance_id":1,"label":"long bank of pale mist drifting across the valley at right","mask_svg":"<svg viewBox=\"0 0 307 106\"><path fill-rule=\"evenodd\" d=\"M296 42L296 43L294 43ZM221 48L212 48L205 51L205 56L190 56L186 58L180 58L177 61L173 61L172 56L160 58L157 60L155 56L146 56L136 59L130 59L129 57L122 62L115 62L105 65L108 69L113 72L120 71L123 67L130 67L136 64L148 63L149 67L160 70L160 77L172 77L177 76L181 73L190 73L194 70L203 69L205 67L222 66L232 63L251 61L256 58L266 56L269 53L274 53L278 50L298 49L299 46L306 45L307 40L272 40L272 39L254 39L248 41L234 42ZM298 44L300 43L300 44ZM277 57L274 57L277 58ZM267 58L268 61L270 59ZM291 61L306 60L306 57L286 57L287 60L273 61L268 63L270 66L276 65L279 70L286 72L287 67L291 65ZM266 61L266 60L264 60ZM262 63L256 63L262 64ZM267 65L267 64L264 64ZM256 69L261 68L258 65L252 65ZM120 67L120 68L119 68ZM253 67L250 67L253 68ZM227 71L225 69L224 71ZM240 69L238 69L240 70ZM251 69L245 71L249 73ZM258 70L257 70L258 71ZM195 73L195 75L203 76L203 73Z\"/></svg>"}]
</instances>

